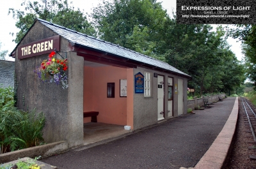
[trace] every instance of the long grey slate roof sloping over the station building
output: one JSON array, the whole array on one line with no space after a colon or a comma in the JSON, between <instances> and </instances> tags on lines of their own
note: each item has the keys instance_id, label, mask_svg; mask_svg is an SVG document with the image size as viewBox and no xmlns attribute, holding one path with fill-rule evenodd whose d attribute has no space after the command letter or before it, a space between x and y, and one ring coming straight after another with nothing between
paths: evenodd
<instances>
[{"instance_id":1,"label":"long grey slate roof sloping over the station building","mask_svg":"<svg viewBox=\"0 0 256 169\"><path fill-rule=\"evenodd\" d=\"M179 73L180 75L185 75L186 77L190 77L186 73L177 70L170 64L159 61L147 55L140 54L138 52L134 52L124 47L120 47L113 43L109 43L104 40L99 40L97 38L93 38L92 36L88 36L83 33L78 33L77 31L67 29L63 26L58 26L56 24L52 24L46 20L42 20L38 18L38 21L42 23L44 26L49 27L55 33L60 34L63 38L66 38L68 41L72 43L76 43L79 45L83 45L88 48L93 48L95 50L100 50L102 52L108 52L109 54L118 55L120 57L125 57L134 61L150 64L152 66L156 66L158 68L163 68L164 70L173 71L175 73Z\"/></svg>"}]
</instances>

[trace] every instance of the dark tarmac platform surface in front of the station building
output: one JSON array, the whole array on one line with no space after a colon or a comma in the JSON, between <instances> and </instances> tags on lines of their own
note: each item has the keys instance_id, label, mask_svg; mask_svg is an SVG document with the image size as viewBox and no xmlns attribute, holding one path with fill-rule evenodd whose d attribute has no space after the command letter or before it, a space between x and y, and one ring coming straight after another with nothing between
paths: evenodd
<instances>
[{"instance_id":1,"label":"dark tarmac platform surface in front of the station building","mask_svg":"<svg viewBox=\"0 0 256 169\"><path fill-rule=\"evenodd\" d=\"M168 119L131 135L122 134L122 138L112 142L79 147L41 161L58 168L194 167L225 126L235 100L223 99L212 108L196 110L195 114ZM227 133L232 130L229 127L226 127ZM225 133L222 135L225 137ZM216 151L219 149L222 148L214 147Z\"/></svg>"}]
</instances>

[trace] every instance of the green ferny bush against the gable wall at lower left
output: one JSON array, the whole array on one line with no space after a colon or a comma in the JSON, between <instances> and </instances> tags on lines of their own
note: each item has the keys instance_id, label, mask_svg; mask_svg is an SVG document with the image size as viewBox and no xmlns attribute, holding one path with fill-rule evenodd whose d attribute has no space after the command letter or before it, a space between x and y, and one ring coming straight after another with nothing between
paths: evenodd
<instances>
[{"instance_id":1,"label":"green ferny bush against the gable wall at lower left","mask_svg":"<svg viewBox=\"0 0 256 169\"><path fill-rule=\"evenodd\" d=\"M45 117L36 113L17 110L14 107L12 88L0 88L0 145L1 154L39 145L43 141L42 129Z\"/></svg>"}]
</instances>

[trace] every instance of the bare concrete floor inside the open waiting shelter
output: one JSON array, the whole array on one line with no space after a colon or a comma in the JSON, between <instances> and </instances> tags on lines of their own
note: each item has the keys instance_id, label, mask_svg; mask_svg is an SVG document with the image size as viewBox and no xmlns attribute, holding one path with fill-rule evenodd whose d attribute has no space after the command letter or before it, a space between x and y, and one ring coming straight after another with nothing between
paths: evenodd
<instances>
[{"instance_id":1,"label":"bare concrete floor inside the open waiting shelter","mask_svg":"<svg viewBox=\"0 0 256 169\"><path fill-rule=\"evenodd\" d=\"M101 122L84 123L84 145L102 142L129 133L131 130L125 130L124 126Z\"/></svg>"}]
</instances>

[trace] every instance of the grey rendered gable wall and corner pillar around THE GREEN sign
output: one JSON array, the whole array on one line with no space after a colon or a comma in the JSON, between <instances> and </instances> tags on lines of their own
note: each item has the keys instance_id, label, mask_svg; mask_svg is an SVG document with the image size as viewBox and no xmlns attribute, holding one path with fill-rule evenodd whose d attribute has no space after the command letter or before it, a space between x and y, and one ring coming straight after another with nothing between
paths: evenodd
<instances>
[{"instance_id":1,"label":"grey rendered gable wall and corner pillar around THE GREEN sign","mask_svg":"<svg viewBox=\"0 0 256 169\"><path fill-rule=\"evenodd\" d=\"M55 35L57 34L36 22L20 42L20 45ZM67 52L68 41L61 37L60 43L60 51ZM67 140L68 147L81 145L83 142L83 132L81 132L81 129L83 129L83 103L77 101L81 99L83 102L83 96L81 97L81 94L83 94L83 61L81 61L81 57L70 53L67 54L69 87L68 89L62 89L61 85L56 85L54 82L51 84L42 83L34 72L41 62L48 58L48 54L26 59L18 59L17 54L16 50L17 108L22 110L36 108L38 112L44 112L46 117L44 127L45 142L52 143ZM75 73L77 74L75 75ZM77 78L78 75L79 77L82 76L81 80ZM77 97L74 97L74 94ZM76 107L76 105L79 106ZM74 117L78 113L81 113L81 117ZM82 124L77 121L77 118L80 118ZM78 126L79 124L81 126Z\"/></svg>"}]
</instances>

